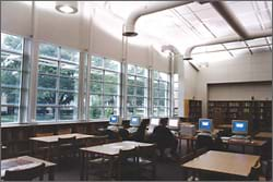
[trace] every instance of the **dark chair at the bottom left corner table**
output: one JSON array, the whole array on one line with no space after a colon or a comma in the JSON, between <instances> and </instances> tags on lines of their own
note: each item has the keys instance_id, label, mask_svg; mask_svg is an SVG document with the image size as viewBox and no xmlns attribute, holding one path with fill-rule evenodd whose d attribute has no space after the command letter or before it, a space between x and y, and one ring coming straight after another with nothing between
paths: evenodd
<instances>
[{"instance_id":1,"label":"dark chair at the bottom left corner table","mask_svg":"<svg viewBox=\"0 0 273 182\"><path fill-rule=\"evenodd\" d=\"M45 163L37 165L32 168L21 170L7 170L3 180L4 181L31 181L39 178L39 181L44 180Z\"/></svg>"}]
</instances>

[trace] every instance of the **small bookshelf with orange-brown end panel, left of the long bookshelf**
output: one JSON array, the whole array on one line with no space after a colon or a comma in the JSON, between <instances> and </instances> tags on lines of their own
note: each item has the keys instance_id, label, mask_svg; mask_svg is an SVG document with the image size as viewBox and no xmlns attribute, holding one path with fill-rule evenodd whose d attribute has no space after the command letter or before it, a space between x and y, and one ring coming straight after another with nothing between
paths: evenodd
<instances>
[{"instance_id":1,"label":"small bookshelf with orange-brown end panel, left of the long bookshelf","mask_svg":"<svg viewBox=\"0 0 273 182\"><path fill-rule=\"evenodd\" d=\"M198 122L202 118L202 101L185 99L185 117L189 122Z\"/></svg>"}]
</instances>

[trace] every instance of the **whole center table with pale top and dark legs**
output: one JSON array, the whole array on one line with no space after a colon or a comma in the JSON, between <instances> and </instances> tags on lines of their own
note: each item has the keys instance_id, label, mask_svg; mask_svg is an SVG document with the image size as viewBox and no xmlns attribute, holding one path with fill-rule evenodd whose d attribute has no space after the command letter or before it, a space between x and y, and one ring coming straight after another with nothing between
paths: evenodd
<instances>
[{"instance_id":1,"label":"whole center table with pale top and dark legs","mask_svg":"<svg viewBox=\"0 0 273 182\"><path fill-rule=\"evenodd\" d=\"M86 157L88 154L98 154L102 156L107 156L110 158L110 161L112 161L114 157L117 157L121 149L126 150L126 149L135 148L138 146L152 146L152 145L154 144L140 143L140 142L134 142L134 141L122 141L122 142L80 148L81 162L82 162L80 179L84 180L84 177L86 173L86 161L87 161ZM111 172L112 172L112 162L110 162L110 170L109 170L110 177L111 177Z\"/></svg>"}]
</instances>

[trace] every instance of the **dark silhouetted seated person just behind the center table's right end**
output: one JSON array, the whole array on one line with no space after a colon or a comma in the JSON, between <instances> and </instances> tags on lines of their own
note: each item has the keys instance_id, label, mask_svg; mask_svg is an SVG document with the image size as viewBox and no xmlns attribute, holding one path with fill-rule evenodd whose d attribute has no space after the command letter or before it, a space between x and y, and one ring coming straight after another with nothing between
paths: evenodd
<instances>
[{"instance_id":1,"label":"dark silhouetted seated person just behind the center table's right end","mask_svg":"<svg viewBox=\"0 0 273 182\"><path fill-rule=\"evenodd\" d=\"M170 132L167 125L167 120L161 120L158 126L156 126L152 134L153 142L156 143L157 148L161 150L161 155L166 153L166 149L170 149L170 154L173 157L177 157L176 150L178 142L175 135ZM171 157L169 154L167 157Z\"/></svg>"}]
</instances>

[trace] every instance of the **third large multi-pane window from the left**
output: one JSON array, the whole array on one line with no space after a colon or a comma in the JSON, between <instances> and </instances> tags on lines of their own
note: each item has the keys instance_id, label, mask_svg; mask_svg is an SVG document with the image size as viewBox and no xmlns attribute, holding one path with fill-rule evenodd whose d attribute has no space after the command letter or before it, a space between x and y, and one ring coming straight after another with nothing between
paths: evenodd
<instances>
[{"instance_id":1,"label":"third large multi-pane window from the left","mask_svg":"<svg viewBox=\"0 0 273 182\"><path fill-rule=\"evenodd\" d=\"M106 119L119 114L120 63L92 57L90 71L90 119Z\"/></svg>"}]
</instances>

